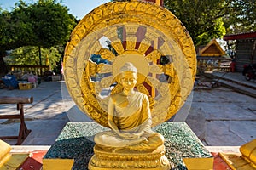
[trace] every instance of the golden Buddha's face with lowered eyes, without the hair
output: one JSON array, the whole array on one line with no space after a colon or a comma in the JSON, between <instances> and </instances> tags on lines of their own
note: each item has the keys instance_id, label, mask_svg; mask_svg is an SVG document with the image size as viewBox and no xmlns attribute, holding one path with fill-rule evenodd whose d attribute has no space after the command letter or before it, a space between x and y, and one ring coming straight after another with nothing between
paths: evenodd
<instances>
[{"instance_id":1,"label":"golden Buddha's face with lowered eyes, without the hair","mask_svg":"<svg viewBox=\"0 0 256 170\"><path fill-rule=\"evenodd\" d=\"M125 90L131 90L137 83L137 73L132 71L125 71L121 74L121 84Z\"/></svg>"}]
</instances>

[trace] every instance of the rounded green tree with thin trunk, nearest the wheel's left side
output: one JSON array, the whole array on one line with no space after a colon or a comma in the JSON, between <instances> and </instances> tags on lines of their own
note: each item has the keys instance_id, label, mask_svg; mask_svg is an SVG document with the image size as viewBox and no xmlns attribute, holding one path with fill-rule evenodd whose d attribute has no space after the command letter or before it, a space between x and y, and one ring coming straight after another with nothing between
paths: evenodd
<instances>
[{"instance_id":1,"label":"rounded green tree with thin trunk, nearest the wheel's left side","mask_svg":"<svg viewBox=\"0 0 256 170\"><path fill-rule=\"evenodd\" d=\"M30 5L20 1L16 6L24 8L32 23L34 38L31 45L38 46L39 65L42 65L41 47L66 44L76 20L72 14L68 14L66 6L55 0L38 0L38 3Z\"/></svg>"}]
</instances>

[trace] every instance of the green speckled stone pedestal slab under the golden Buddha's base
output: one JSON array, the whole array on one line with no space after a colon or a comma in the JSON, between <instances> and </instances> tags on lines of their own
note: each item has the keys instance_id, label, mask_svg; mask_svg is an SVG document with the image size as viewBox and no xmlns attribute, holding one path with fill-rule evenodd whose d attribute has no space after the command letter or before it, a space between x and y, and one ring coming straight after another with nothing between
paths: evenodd
<instances>
[{"instance_id":1,"label":"green speckled stone pedestal slab under the golden Buddha's base","mask_svg":"<svg viewBox=\"0 0 256 170\"><path fill-rule=\"evenodd\" d=\"M52 144L44 156L43 169L87 169L93 165L90 164L90 160L94 155L94 135L107 130L108 128L102 127L96 122L68 122L58 139L55 140L55 144ZM206 170L213 168L213 157L211 153L206 150L185 122L164 122L160 126L154 127L153 130L161 133L166 139L165 155L172 169ZM150 153L145 153L144 155L148 156L148 154ZM96 169L96 166L91 167L95 167Z\"/></svg>"}]
</instances>

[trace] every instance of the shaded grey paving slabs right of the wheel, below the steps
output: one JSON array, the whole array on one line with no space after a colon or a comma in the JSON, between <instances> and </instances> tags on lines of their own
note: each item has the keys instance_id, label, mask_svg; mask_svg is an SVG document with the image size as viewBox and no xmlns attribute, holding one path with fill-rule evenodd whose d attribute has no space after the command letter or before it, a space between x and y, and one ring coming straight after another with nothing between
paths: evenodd
<instances>
[{"instance_id":1,"label":"shaded grey paving slabs right of the wheel, below the steps","mask_svg":"<svg viewBox=\"0 0 256 170\"><path fill-rule=\"evenodd\" d=\"M256 138L255 104L228 88L196 90L186 122L206 145L245 144Z\"/></svg>"}]
</instances>

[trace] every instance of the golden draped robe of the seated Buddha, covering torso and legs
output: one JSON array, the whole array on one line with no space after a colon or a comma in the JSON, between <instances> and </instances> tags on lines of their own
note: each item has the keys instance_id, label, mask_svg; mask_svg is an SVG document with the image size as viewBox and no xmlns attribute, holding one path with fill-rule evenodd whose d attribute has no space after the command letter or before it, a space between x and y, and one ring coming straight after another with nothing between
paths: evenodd
<instances>
[{"instance_id":1,"label":"golden draped robe of the seated Buddha, covering torso and legs","mask_svg":"<svg viewBox=\"0 0 256 170\"><path fill-rule=\"evenodd\" d=\"M118 102L119 95L121 94L114 94L109 99L108 114L113 117L113 123L121 133L139 133L143 131L143 135L138 139L125 139L111 130L97 133L95 137L96 144L113 148L129 147L130 149L131 146L136 146L135 150L155 149L162 145L163 137L160 133L151 130L152 119L148 96L135 92L127 96L124 101Z\"/></svg>"}]
</instances>

